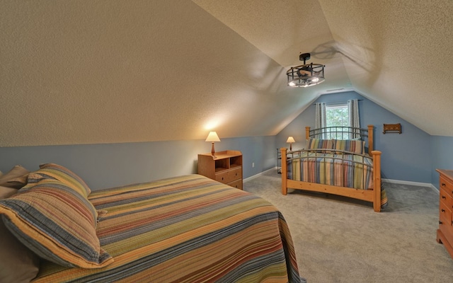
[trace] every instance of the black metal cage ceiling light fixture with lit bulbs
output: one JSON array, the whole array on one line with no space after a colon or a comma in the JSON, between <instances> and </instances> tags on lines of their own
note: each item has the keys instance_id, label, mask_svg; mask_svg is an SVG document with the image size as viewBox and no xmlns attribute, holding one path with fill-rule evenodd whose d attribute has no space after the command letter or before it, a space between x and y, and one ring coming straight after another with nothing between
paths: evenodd
<instances>
[{"instance_id":1,"label":"black metal cage ceiling light fixture with lit bulbs","mask_svg":"<svg viewBox=\"0 0 453 283\"><path fill-rule=\"evenodd\" d=\"M310 53L302 53L299 55L299 60L304 61L303 65L291 67L286 72L288 77L288 86L294 88L306 88L307 86L316 86L319 83L326 81L324 79L324 65L322 64L305 64L306 60L310 59Z\"/></svg>"}]
</instances>

